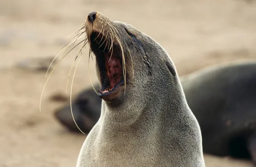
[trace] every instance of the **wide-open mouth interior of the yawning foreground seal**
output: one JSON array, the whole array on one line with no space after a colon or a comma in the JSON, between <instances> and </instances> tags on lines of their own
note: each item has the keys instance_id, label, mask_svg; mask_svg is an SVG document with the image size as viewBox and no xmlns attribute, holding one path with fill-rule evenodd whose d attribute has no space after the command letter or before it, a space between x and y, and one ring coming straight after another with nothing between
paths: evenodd
<instances>
[{"instance_id":1,"label":"wide-open mouth interior of the yawning foreground seal","mask_svg":"<svg viewBox=\"0 0 256 167\"><path fill-rule=\"evenodd\" d=\"M99 96L103 97L124 83L120 48L114 43L112 45L111 39L96 32L91 34L90 41L91 50L96 56L102 84Z\"/></svg>"}]
</instances>

